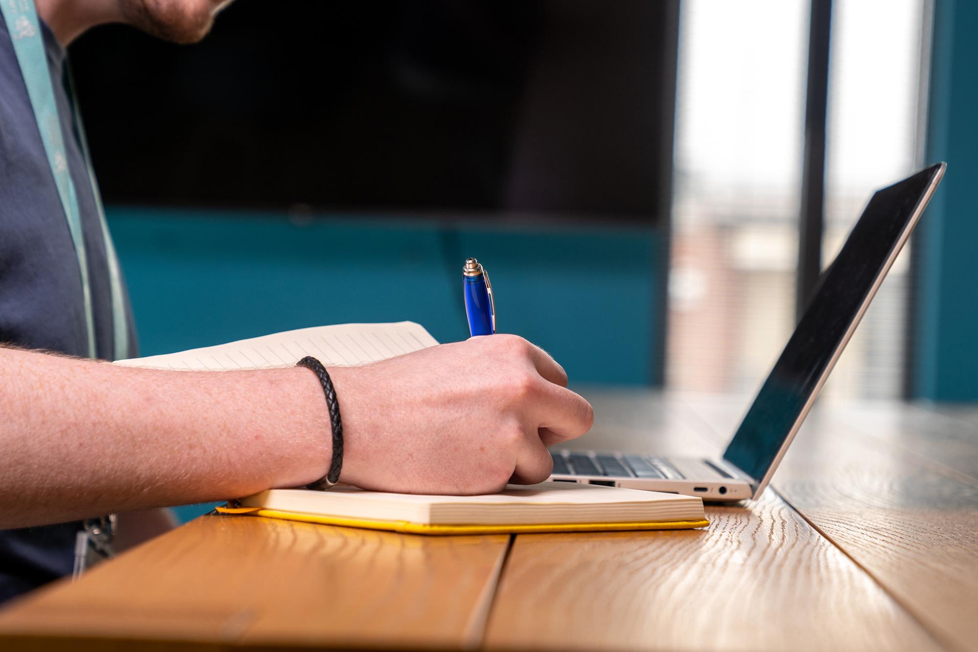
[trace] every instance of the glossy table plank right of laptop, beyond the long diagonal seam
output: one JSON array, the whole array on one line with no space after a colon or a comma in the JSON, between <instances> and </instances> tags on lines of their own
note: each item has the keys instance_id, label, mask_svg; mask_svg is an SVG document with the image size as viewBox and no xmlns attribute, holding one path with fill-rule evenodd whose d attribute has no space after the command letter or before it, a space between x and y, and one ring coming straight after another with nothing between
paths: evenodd
<instances>
[{"instance_id":1,"label":"glossy table plank right of laptop, beyond the long diagonal seam","mask_svg":"<svg viewBox=\"0 0 978 652\"><path fill-rule=\"evenodd\" d=\"M802 435L778 491L948 647L978 650L978 482L833 413Z\"/></svg>"}]
</instances>

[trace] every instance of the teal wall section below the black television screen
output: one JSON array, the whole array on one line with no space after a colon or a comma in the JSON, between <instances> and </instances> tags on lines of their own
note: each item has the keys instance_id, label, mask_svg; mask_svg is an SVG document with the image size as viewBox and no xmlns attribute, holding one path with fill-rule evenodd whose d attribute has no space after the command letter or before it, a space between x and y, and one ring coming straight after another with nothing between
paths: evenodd
<instances>
[{"instance_id":1,"label":"teal wall section below the black television screen","mask_svg":"<svg viewBox=\"0 0 978 652\"><path fill-rule=\"evenodd\" d=\"M660 377L665 244L651 229L125 207L108 218L142 355L350 322L412 320L465 339L462 265L475 256L500 331L543 346L573 382Z\"/></svg>"}]
</instances>

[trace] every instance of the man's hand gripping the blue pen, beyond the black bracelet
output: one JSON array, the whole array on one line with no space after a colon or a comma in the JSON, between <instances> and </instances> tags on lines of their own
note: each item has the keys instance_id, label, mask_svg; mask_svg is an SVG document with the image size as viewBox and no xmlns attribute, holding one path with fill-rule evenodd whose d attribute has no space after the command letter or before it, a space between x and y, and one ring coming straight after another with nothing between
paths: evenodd
<instances>
[{"instance_id":1,"label":"man's hand gripping the blue pen, beyond the black bracelet","mask_svg":"<svg viewBox=\"0 0 978 652\"><path fill-rule=\"evenodd\" d=\"M594 421L554 359L515 335L330 374L343 419L340 481L364 489L483 494L542 482L554 467L547 446Z\"/></svg>"}]
</instances>

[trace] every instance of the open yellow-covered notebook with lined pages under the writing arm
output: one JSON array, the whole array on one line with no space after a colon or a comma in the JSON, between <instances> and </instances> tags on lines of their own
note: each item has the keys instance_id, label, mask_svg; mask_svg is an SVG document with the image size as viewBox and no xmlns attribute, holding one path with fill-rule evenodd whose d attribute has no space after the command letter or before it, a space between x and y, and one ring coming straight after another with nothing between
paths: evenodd
<instances>
[{"instance_id":1,"label":"open yellow-covered notebook with lined pages under the writing arm","mask_svg":"<svg viewBox=\"0 0 978 652\"><path fill-rule=\"evenodd\" d=\"M289 367L305 356L327 366L365 365L438 342L414 322L344 324L287 330L237 342L116 365L152 369L230 370ZM415 534L664 530L709 525L695 497L594 485L509 485L492 496L415 496L277 489L218 507L224 513L345 525Z\"/></svg>"}]
</instances>

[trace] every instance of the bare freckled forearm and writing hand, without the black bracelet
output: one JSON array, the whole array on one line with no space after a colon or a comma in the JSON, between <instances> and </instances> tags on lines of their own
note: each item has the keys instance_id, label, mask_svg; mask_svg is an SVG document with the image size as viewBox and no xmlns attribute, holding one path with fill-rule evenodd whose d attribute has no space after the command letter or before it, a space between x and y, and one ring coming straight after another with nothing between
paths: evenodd
<instances>
[{"instance_id":1,"label":"bare freckled forearm and writing hand, without the black bracelet","mask_svg":"<svg viewBox=\"0 0 978 652\"><path fill-rule=\"evenodd\" d=\"M332 456L308 369L134 369L2 347L0 369L0 528L302 486ZM594 418L563 369L513 335L330 373L340 481L367 489L481 494L540 482L553 468L546 447Z\"/></svg>"}]
</instances>

